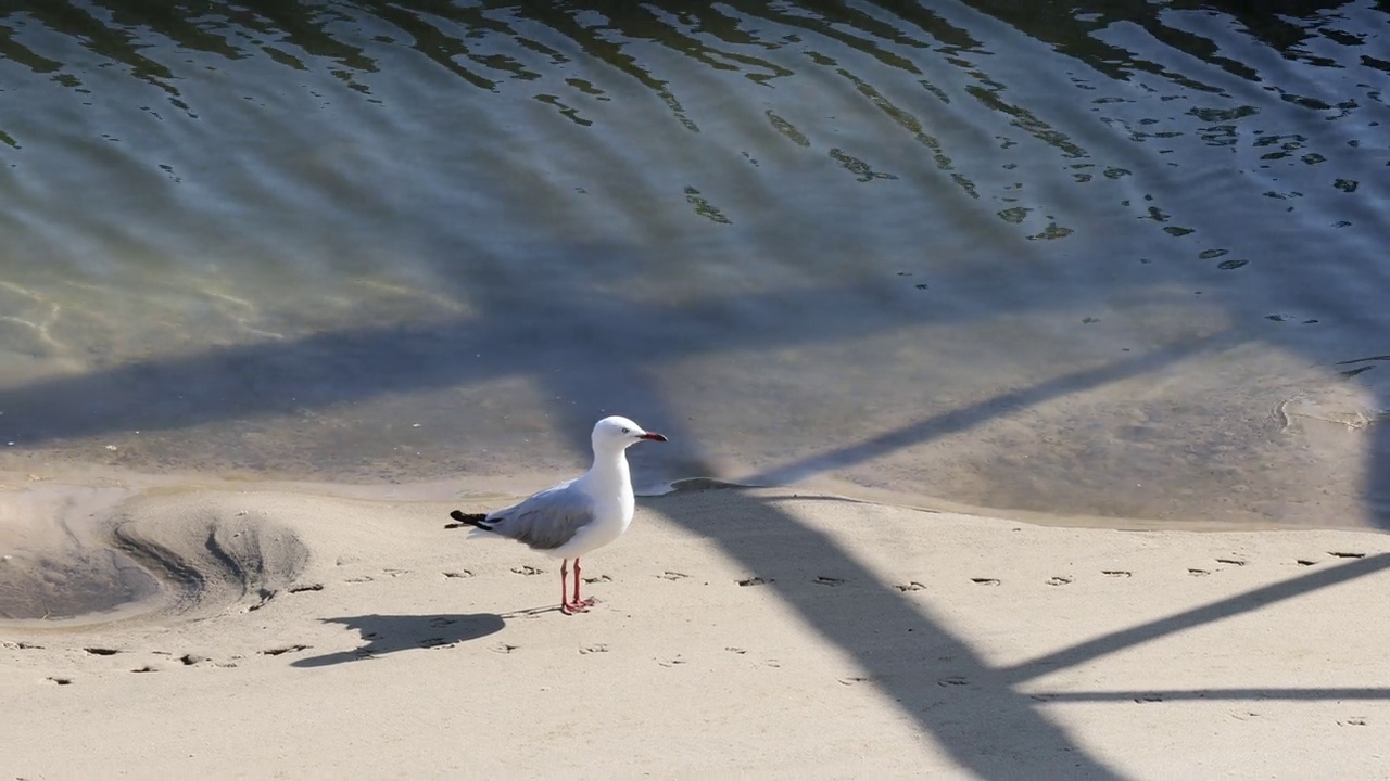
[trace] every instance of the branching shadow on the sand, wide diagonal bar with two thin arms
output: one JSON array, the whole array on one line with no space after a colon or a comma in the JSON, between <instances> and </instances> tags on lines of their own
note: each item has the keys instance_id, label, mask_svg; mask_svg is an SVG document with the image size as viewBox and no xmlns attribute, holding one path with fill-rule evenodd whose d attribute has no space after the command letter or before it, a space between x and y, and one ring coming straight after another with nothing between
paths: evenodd
<instances>
[{"instance_id":1,"label":"branching shadow on the sand, wide diagonal bar with two thin arms","mask_svg":"<svg viewBox=\"0 0 1390 781\"><path fill-rule=\"evenodd\" d=\"M1118 774L1076 742L1042 710L1048 702L1123 700L1382 700L1384 688L1212 688L1193 691L1037 692L1019 684L1084 664L1166 635L1250 613L1322 588L1375 575L1390 567L1379 554L1280 581L1247 593L1049 653L1011 667L987 663L963 639L931 620L834 539L808 528L777 506L776 498L728 492L737 510L713 517L660 499L646 507L691 531L717 541L726 553L798 611L828 643L848 653L885 696L912 716L938 745L970 773L984 778L1113 778ZM769 559L769 541L780 554ZM809 567L809 570L808 570ZM823 568L856 584L845 598L828 598L806 577ZM905 663L910 660L910 663ZM981 725L974 714L990 713Z\"/></svg>"}]
</instances>

